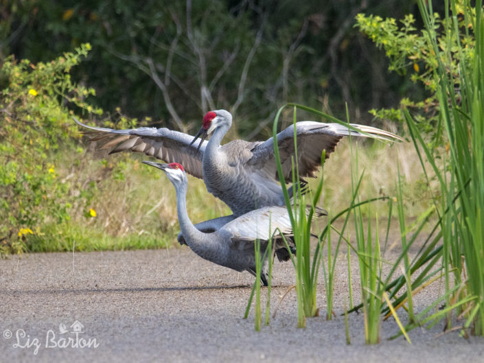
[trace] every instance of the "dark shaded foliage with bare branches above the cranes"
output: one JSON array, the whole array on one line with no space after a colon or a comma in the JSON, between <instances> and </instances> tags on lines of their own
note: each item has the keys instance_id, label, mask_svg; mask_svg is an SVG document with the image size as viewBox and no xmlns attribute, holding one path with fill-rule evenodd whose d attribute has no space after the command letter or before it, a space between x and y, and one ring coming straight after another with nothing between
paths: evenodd
<instances>
[{"instance_id":1,"label":"dark shaded foliage with bare branches above the cranes","mask_svg":"<svg viewBox=\"0 0 484 363\"><path fill-rule=\"evenodd\" d=\"M412 1L3 2L0 60L47 62L80 43L73 70L107 113L152 117L194 130L210 108L234 114L238 133L269 134L275 110L298 102L369 124L370 108L397 104L415 86L354 27L359 12L403 16ZM362 120L361 120L362 119Z\"/></svg>"}]
</instances>

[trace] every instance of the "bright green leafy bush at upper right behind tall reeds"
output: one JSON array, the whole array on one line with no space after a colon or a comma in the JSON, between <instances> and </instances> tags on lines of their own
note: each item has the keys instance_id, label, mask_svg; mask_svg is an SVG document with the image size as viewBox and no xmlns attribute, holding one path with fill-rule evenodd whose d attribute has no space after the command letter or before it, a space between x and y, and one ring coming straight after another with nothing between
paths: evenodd
<instances>
[{"instance_id":1,"label":"bright green leafy bush at upper right behind tall reeds","mask_svg":"<svg viewBox=\"0 0 484 363\"><path fill-rule=\"evenodd\" d=\"M439 102L437 99L438 77L435 77L439 62L442 62L446 73L452 78L454 89L461 89L459 67L468 67L475 54L475 39L469 31L471 25L465 21L464 6L457 1L457 26L463 30L455 32L451 19L440 19L435 13L434 30L439 47L433 49L427 30L417 30L412 14L404 16L401 26L393 18L382 19L380 16L358 14L356 26L373 40L379 48L383 48L390 60L389 71L405 75L411 72L412 82L422 84L428 92L428 97L419 99L405 97L401 100L402 108L413 110L413 117L419 129L432 135L436 144L441 143L439 128ZM382 108L370 111L381 119L405 122L402 108Z\"/></svg>"}]
</instances>

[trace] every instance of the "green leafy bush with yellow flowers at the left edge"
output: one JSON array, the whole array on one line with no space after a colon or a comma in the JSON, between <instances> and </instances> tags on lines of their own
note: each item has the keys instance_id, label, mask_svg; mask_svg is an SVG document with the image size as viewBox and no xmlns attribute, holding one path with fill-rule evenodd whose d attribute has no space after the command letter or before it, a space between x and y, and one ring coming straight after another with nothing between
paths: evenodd
<instances>
[{"instance_id":1,"label":"green leafy bush with yellow flowers at the left edge","mask_svg":"<svg viewBox=\"0 0 484 363\"><path fill-rule=\"evenodd\" d=\"M87 55L89 44L52 62L33 65L13 57L3 63L0 129L0 252L19 252L23 242L41 233L49 221L69 220L74 199L67 180L59 180L59 152L82 152L71 120L74 104L89 113L101 113L85 98L93 89L73 84L71 67Z\"/></svg>"}]
</instances>

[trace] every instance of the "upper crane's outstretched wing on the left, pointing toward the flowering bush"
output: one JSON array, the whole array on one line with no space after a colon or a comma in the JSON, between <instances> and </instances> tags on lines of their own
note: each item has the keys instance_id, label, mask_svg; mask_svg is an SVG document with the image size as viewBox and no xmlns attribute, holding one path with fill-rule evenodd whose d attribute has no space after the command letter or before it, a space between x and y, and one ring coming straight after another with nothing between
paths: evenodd
<instances>
[{"instance_id":1,"label":"upper crane's outstretched wing on the left, pointing toward the flowering bush","mask_svg":"<svg viewBox=\"0 0 484 363\"><path fill-rule=\"evenodd\" d=\"M181 163L188 174L202 178L203 152L207 141L203 141L197 152L199 140L189 145L193 137L183 132L168 128L133 128L130 130L112 130L82 124L74 117L76 124L94 130L89 132L89 141L104 141L102 148L112 148L109 154L130 150L154 156L165 163Z\"/></svg>"}]
</instances>

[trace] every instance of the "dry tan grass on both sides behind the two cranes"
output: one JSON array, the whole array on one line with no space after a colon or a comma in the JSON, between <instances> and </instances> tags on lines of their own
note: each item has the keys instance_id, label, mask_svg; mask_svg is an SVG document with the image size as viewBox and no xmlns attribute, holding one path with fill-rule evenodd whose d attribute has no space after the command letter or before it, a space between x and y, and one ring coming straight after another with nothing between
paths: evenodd
<instances>
[{"instance_id":1,"label":"dry tan grass on both sides behind the two cranes","mask_svg":"<svg viewBox=\"0 0 484 363\"><path fill-rule=\"evenodd\" d=\"M421 167L411 143L361 143L352 140L358 152L360 170L365 169L362 198L394 196L397 165L404 178L407 215L419 215L428 207L429 188L423 183ZM172 235L178 232L176 195L163 173L141 164L148 159L141 154L93 154L93 148L81 156L66 156L69 165L60 170L60 180L70 183L71 193L80 194L95 184L91 202L80 198L72 207L71 223L89 226L108 235ZM106 162L102 163L102 159ZM349 139L336 148L325 163L321 206L332 214L345 209L351 200L351 150ZM77 163L77 165L76 165ZM121 165L121 166L120 166ZM123 166L124 165L124 166ZM119 178L122 174L123 178ZM314 185L316 180L310 180ZM95 218L86 218L89 208ZM229 208L207 192L203 180L189 176L187 195L189 216L194 223L227 215ZM384 215L381 213L380 215Z\"/></svg>"}]
</instances>

